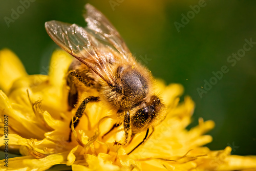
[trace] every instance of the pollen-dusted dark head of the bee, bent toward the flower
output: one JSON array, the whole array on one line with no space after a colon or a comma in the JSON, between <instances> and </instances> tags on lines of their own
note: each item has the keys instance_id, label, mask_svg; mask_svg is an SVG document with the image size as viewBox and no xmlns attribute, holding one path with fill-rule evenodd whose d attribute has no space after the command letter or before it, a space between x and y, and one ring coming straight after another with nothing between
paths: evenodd
<instances>
[{"instance_id":1,"label":"pollen-dusted dark head of the bee, bent toward the flower","mask_svg":"<svg viewBox=\"0 0 256 171\"><path fill-rule=\"evenodd\" d=\"M133 132L141 132L148 127L154 127L164 118L164 104L157 96L152 96L150 102L142 103L131 117Z\"/></svg>"}]
</instances>

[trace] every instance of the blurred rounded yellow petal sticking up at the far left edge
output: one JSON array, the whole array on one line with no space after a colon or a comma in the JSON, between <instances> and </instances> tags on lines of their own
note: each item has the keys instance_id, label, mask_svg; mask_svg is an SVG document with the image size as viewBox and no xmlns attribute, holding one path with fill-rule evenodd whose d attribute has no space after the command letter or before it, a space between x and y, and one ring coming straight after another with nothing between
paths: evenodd
<instances>
[{"instance_id":1,"label":"blurred rounded yellow petal sticking up at the far left edge","mask_svg":"<svg viewBox=\"0 0 256 171\"><path fill-rule=\"evenodd\" d=\"M0 51L0 89L8 93L12 83L17 78L27 76L27 72L22 62L10 50Z\"/></svg>"}]
</instances>

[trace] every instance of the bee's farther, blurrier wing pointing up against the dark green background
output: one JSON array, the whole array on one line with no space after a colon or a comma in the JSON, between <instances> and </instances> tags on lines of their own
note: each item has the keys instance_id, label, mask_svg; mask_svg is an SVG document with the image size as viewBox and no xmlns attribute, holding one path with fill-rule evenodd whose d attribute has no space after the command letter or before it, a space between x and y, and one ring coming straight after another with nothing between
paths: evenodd
<instances>
[{"instance_id":1,"label":"bee's farther, blurrier wing pointing up against the dark green background","mask_svg":"<svg viewBox=\"0 0 256 171\"><path fill-rule=\"evenodd\" d=\"M103 41L109 48L120 53L124 60L134 62L135 60L132 57L130 50L109 20L92 5L87 4L85 8L87 13L83 16L88 23L86 30L100 41Z\"/></svg>"}]
</instances>

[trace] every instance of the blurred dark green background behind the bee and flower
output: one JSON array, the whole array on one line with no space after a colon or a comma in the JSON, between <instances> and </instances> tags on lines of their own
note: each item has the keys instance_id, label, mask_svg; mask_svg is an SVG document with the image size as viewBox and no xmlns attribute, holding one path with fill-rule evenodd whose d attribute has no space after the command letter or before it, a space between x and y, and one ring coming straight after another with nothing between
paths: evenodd
<instances>
[{"instance_id":1,"label":"blurred dark green background behind the bee and flower","mask_svg":"<svg viewBox=\"0 0 256 171\"><path fill-rule=\"evenodd\" d=\"M235 66L227 62L229 55L243 48L245 38L256 41L256 1L206 0L179 32L174 23L182 24L182 14L201 1L33 1L9 27L6 17L12 19L12 9L22 10L22 3L0 2L0 48L15 52L29 74L46 74L44 68L57 48L45 31L45 22L54 19L86 26L83 6L90 3L111 20L155 77L184 86L184 95L196 102L188 129L198 124L199 117L214 120L210 149L231 145L232 154L256 155L256 45ZM200 98L197 88L204 87L204 80L209 81L212 72L224 65L229 72Z\"/></svg>"}]
</instances>

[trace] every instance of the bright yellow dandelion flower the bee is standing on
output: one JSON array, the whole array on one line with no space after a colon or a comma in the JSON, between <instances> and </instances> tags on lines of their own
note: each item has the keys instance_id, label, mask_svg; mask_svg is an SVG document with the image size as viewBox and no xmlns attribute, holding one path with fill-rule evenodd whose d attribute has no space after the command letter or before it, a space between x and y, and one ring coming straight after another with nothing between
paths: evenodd
<instances>
[{"instance_id":1,"label":"bright yellow dandelion flower the bee is standing on","mask_svg":"<svg viewBox=\"0 0 256 171\"><path fill-rule=\"evenodd\" d=\"M239 170L256 169L255 156L230 155L231 147L210 151L204 135L213 121L199 120L191 130L195 104L186 97L179 102L183 88L158 82L158 92L166 104L167 116L155 127L152 136L131 154L145 133L127 146L118 141L123 132L103 136L111 129L113 112L101 101L90 103L68 142L70 120L66 73L70 56L61 50L53 53L49 75L27 75L18 58L9 50L0 51L0 145L4 154L1 170L47 170L55 165L72 170ZM84 96L88 96L84 93ZM22 156L9 158L10 153ZM4 159L3 159L4 158Z\"/></svg>"}]
</instances>

